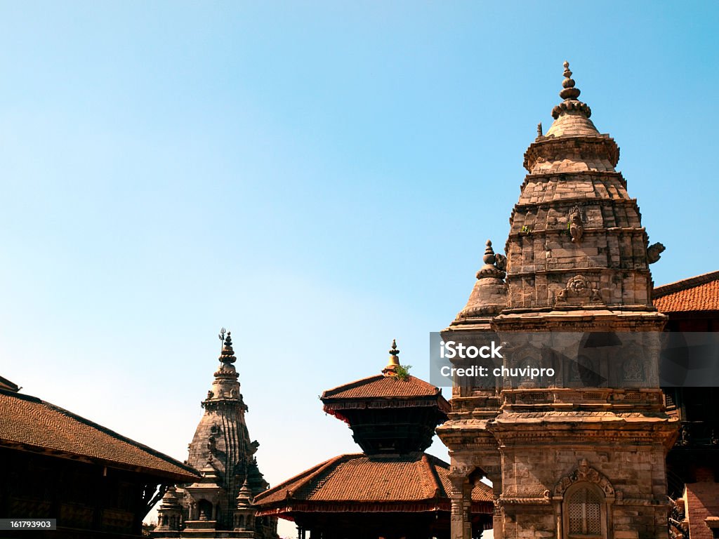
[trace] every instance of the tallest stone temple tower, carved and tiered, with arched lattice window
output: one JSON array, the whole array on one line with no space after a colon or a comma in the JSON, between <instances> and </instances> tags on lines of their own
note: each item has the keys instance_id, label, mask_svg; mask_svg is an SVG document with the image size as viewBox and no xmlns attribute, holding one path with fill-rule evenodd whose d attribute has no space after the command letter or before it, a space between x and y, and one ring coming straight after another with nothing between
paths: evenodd
<instances>
[{"instance_id":1,"label":"tallest stone temple tower, carved and tiered, with arched lattice window","mask_svg":"<svg viewBox=\"0 0 719 539\"><path fill-rule=\"evenodd\" d=\"M471 537L467 493L482 476L497 539L667 538L664 459L677 425L657 373L657 247L615 170L617 144L571 77L564 63L554 123L524 155L506 257L487 242L470 300L442 332L469 344L537 336L506 355L556 371L455 384L437 429L452 458L453 539Z\"/></svg>"}]
</instances>

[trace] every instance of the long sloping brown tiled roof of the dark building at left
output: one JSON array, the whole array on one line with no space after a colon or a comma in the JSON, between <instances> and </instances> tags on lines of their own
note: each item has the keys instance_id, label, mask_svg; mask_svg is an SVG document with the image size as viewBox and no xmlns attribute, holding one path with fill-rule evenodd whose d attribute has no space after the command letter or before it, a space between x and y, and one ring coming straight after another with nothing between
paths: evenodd
<instances>
[{"instance_id":1,"label":"long sloping brown tiled roof of the dark building at left","mask_svg":"<svg viewBox=\"0 0 719 539\"><path fill-rule=\"evenodd\" d=\"M37 397L0 390L0 410L0 446L85 457L173 482L198 479L190 466Z\"/></svg>"}]
</instances>

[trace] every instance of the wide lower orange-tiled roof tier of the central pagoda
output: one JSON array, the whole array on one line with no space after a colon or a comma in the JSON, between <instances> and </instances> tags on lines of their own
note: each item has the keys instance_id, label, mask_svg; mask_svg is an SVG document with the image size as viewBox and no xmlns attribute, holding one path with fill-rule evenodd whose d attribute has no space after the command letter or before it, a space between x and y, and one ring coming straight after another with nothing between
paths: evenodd
<instances>
[{"instance_id":1,"label":"wide lower orange-tiled roof tier of the central pagoda","mask_svg":"<svg viewBox=\"0 0 719 539\"><path fill-rule=\"evenodd\" d=\"M427 453L381 457L355 453L336 456L303 471L258 494L255 504L260 510L280 506L312 510L316 505L316 510L335 507L338 511L362 511L367 504L375 507L373 510L382 510L382 504L387 504L386 510L396 510L398 503L413 504L415 510L444 509L444 505L449 510L449 491L449 464ZM486 502L485 508L491 512L490 487L478 484L472 491L472 502Z\"/></svg>"}]
</instances>

